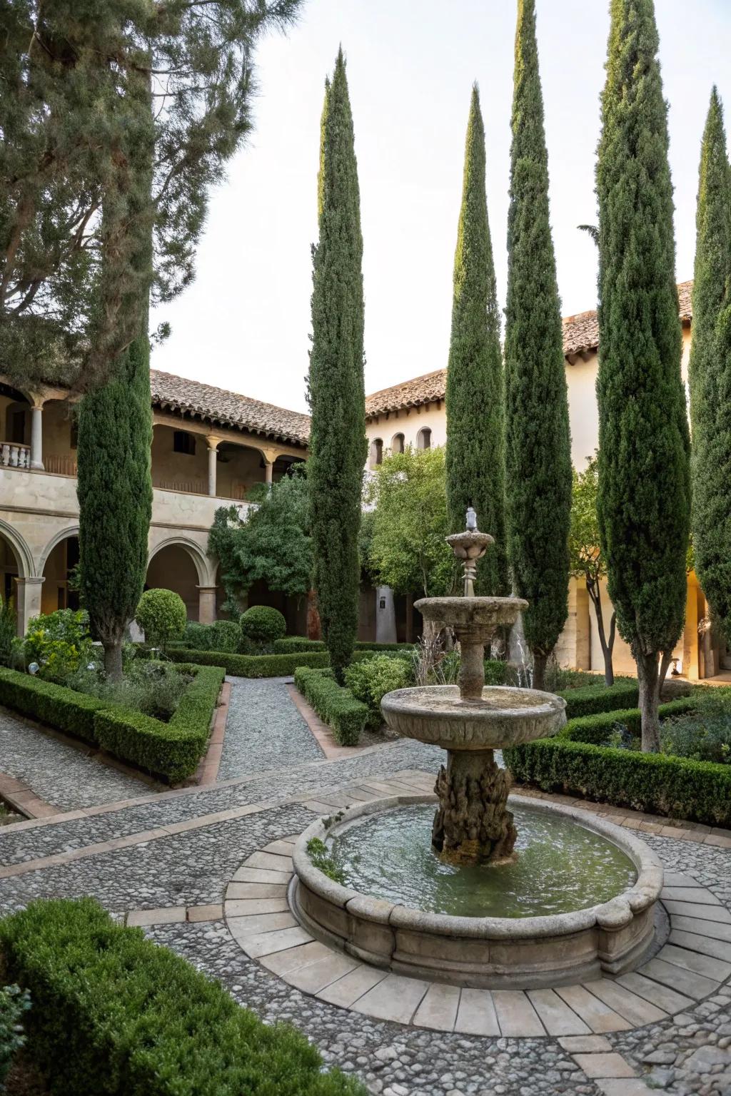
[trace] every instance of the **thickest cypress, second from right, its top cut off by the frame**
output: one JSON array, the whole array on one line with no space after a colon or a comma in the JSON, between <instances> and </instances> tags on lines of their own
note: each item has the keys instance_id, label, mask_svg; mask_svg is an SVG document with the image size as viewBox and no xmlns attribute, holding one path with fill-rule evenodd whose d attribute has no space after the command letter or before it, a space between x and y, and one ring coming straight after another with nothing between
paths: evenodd
<instances>
[{"instance_id":1,"label":"thickest cypress, second from right, its top cut off by the frame","mask_svg":"<svg viewBox=\"0 0 731 1096\"><path fill-rule=\"evenodd\" d=\"M617 626L637 662L642 749L683 630L690 516L667 109L652 0L612 0L599 210L598 518Z\"/></svg>"}]
</instances>

